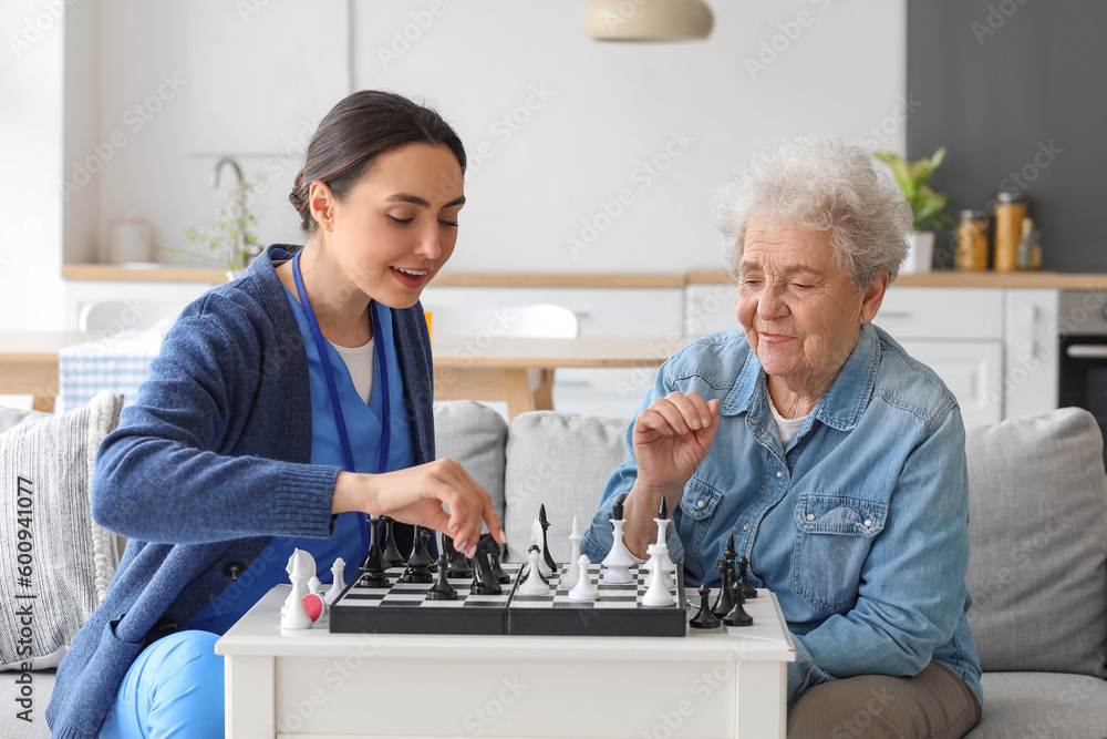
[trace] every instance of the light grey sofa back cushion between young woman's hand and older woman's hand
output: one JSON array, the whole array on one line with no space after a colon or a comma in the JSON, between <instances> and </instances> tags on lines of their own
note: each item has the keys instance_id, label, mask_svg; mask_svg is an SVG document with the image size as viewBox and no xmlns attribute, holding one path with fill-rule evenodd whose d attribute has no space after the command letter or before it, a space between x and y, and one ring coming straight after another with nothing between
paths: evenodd
<instances>
[{"instance_id":1,"label":"light grey sofa back cushion between young woman's hand and older woman's hand","mask_svg":"<svg viewBox=\"0 0 1107 739\"><path fill-rule=\"evenodd\" d=\"M507 434L507 552L511 562L526 561L530 527L546 505L550 553L568 562L572 516L581 533L596 514L611 472L627 459L627 419L557 411L523 413Z\"/></svg>"}]
</instances>

